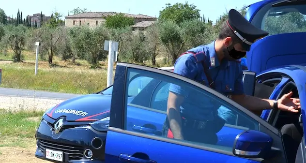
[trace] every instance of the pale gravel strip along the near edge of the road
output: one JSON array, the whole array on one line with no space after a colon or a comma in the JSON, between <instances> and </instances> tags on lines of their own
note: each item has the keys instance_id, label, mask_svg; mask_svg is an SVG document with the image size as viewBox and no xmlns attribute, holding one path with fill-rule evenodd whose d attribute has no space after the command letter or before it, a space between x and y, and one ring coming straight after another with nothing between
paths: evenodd
<instances>
[{"instance_id":1,"label":"pale gravel strip along the near edge of the road","mask_svg":"<svg viewBox=\"0 0 306 163\"><path fill-rule=\"evenodd\" d=\"M0 96L0 108L8 110L46 110L63 100L32 97Z\"/></svg>"}]
</instances>

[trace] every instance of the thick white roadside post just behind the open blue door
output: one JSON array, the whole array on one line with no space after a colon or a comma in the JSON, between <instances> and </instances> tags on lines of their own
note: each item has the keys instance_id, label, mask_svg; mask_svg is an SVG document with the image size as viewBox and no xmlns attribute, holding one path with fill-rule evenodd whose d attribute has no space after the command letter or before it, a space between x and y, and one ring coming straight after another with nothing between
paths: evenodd
<instances>
[{"instance_id":1,"label":"thick white roadside post just behind the open blue door","mask_svg":"<svg viewBox=\"0 0 306 163\"><path fill-rule=\"evenodd\" d=\"M104 50L108 51L107 87L113 84L114 62L117 61L118 46L119 46L118 42L110 40L104 41Z\"/></svg>"}]
</instances>

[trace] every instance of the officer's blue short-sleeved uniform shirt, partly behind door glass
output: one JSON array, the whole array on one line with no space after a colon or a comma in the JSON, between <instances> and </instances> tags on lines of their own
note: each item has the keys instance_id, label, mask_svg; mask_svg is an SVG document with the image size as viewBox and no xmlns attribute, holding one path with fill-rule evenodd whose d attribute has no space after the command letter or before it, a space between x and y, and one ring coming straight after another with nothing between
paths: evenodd
<instances>
[{"instance_id":1,"label":"officer's blue short-sleeved uniform shirt, partly behind door glass","mask_svg":"<svg viewBox=\"0 0 306 163\"><path fill-rule=\"evenodd\" d=\"M240 60L229 61L223 59L219 63L214 49L214 42L188 50L198 54L188 53L179 57L174 64L173 72L209 86L201 63L201 61L204 61L209 67L208 72L214 80L215 89L218 92L225 95L243 94L244 88ZM190 90L182 86L171 84L169 90L185 97L181 106L181 112L184 115L193 117L195 120L212 120L214 117L214 109L212 108L217 109L220 107L212 104L211 99L205 99L201 95L197 95L195 91L189 93ZM192 109L192 111L189 109Z\"/></svg>"}]
</instances>

